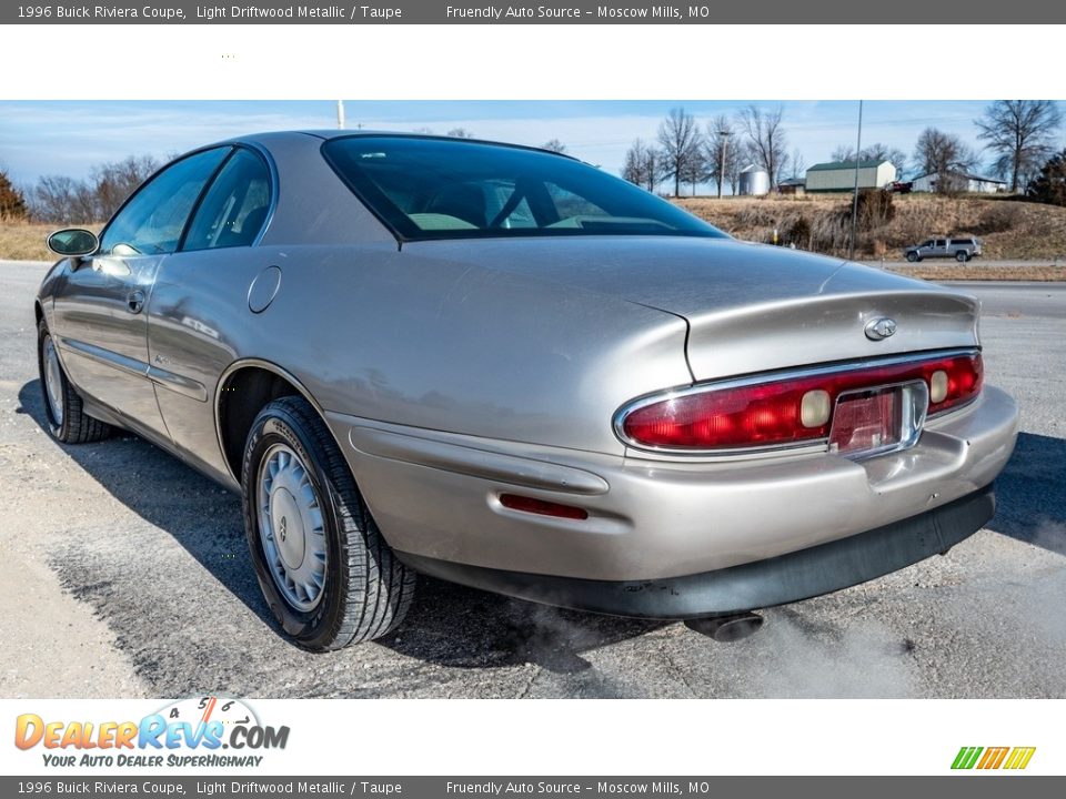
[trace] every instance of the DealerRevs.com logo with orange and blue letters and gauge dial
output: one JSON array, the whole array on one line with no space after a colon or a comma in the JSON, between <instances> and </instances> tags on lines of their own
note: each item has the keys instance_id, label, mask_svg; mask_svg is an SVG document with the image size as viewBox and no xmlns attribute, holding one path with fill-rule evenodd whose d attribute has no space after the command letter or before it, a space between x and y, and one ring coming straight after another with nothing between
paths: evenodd
<instances>
[{"instance_id":1,"label":"DealerRevs.com logo with orange and blue letters and gauge dial","mask_svg":"<svg viewBox=\"0 0 1066 799\"><path fill-rule=\"evenodd\" d=\"M258 767L259 752L288 742L288 726L263 725L247 702L224 696L182 699L139 721L63 721L30 712L14 722L16 747L40 748L44 765L58 767Z\"/></svg>"}]
</instances>

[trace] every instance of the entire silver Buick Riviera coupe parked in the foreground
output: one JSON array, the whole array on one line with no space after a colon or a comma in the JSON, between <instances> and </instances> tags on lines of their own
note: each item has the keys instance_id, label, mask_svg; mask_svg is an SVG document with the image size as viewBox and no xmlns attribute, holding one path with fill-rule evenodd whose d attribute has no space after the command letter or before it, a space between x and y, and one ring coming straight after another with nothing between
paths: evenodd
<instances>
[{"instance_id":1,"label":"entire silver Buick Riviera coupe parked in the foreground","mask_svg":"<svg viewBox=\"0 0 1066 799\"><path fill-rule=\"evenodd\" d=\"M49 243L52 434L239 490L311 649L393 630L418 573L712 623L837 590L979 529L1014 446L969 296L539 150L248 136Z\"/></svg>"}]
</instances>

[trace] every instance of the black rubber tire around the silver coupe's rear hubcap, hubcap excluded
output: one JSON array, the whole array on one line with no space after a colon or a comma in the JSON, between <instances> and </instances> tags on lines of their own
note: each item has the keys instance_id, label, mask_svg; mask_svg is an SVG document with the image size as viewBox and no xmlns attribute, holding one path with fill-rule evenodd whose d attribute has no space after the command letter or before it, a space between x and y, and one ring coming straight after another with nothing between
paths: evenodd
<instances>
[{"instance_id":1,"label":"black rubber tire around the silver coupe's rear hubcap, hubcap excluded","mask_svg":"<svg viewBox=\"0 0 1066 799\"><path fill-rule=\"evenodd\" d=\"M260 468L271 451L294 453L318 499L325 564L313 607L286 596L268 565L260 503ZM329 428L302 397L282 397L255 417L241 469L244 529L263 596L279 624L308 649L324 651L373 640L394 630L414 597L415 574L396 558L363 502ZM273 505L271 505L273 508ZM273 510L271 512L273 513ZM301 542L311 540L301 529ZM285 517L280 540L284 542ZM276 544L279 549L283 546ZM306 544L300 550L306 557ZM308 599L308 597L304 597Z\"/></svg>"}]
</instances>

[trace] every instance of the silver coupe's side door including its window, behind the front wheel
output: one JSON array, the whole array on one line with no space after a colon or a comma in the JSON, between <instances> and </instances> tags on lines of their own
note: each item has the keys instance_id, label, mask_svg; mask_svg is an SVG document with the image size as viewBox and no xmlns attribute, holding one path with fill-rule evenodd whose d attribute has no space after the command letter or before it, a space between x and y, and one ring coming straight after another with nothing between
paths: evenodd
<instances>
[{"instance_id":1,"label":"silver coupe's side door including its window, behind the front wheel","mask_svg":"<svg viewBox=\"0 0 1066 799\"><path fill-rule=\"evenodd\" d=\"M144 313L160 264L178 249L201 192L229 148L172 163L111 219L93 255L73 260L54 299L56 334L71 381L139 432L167 438L149 380Z\"/></svg>"}]
</instances>

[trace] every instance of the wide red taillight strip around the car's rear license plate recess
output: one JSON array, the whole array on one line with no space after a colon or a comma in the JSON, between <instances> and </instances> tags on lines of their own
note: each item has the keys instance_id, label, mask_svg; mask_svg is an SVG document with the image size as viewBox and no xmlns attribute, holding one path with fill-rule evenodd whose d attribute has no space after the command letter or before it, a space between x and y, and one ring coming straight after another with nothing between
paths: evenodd
<instances>
[{"instance_id":1,"label":"wide red taillight strip around the car's rear license plate recess","mask_svg":"<svg viewBox=\"0 0 1066 799\"><path fill-rule=\"evenodd\" d=\"M937 391L931 391L929 414L966 403L980 392L980 354L966 353L928 361L826 368L758 383L711 385L634 408L621 419L620 432L623 438L636 444L667 449L814 442L828 436L833 424L829 409L836 407L842 394L918 380L929 385L937 372L944 374L935 377Z\"/></svg>"}]
</instances>

